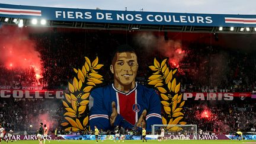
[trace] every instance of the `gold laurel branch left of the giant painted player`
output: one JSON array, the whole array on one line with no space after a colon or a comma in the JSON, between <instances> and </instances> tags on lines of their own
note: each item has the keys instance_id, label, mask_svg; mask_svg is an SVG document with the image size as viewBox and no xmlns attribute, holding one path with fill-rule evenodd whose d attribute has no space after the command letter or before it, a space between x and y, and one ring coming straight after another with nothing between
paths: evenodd
<instances>
[{"instance_id":1,"label":"gold laurel branch left of the giant painted player","mask_svg":"<svg viewBox=\"0 0 256 144\"><path fill-rule=\"evenodd\" d=\"M102 64L98 64L97 56L92 63L88 57L85 57L85 64L82 69L73 68L77 75L73 78L72 84L69 82L69 94L65 93L65 99L62 100L66 107L66 113L64 114L66 121L61 125L67 127L65 131L70 131L71 128L73 131L86 129L89 113L84 112L88 107L89 94L92 88L103 82L103 76L95 71L102 66Z\"/></svg>"}]
</instances>

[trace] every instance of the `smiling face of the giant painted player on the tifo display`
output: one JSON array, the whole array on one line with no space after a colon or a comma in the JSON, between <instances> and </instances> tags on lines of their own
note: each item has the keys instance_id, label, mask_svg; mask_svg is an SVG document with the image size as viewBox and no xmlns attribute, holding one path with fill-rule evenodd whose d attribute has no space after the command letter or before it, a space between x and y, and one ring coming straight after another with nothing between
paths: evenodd
<instances>
[{"instance_id":1,"label":"smiling face of the giant painted player on the tifo display","mask_svg":"<svg viewBox=\"0 0 256 144\"><path fill-rule=\"evenodd\" d=\"M135 83L137 69L137 56L132 52L116 53L116 60L110 66L111 72L114 73L114 80L121 85Z\"/></svg>"}]
</instances>

